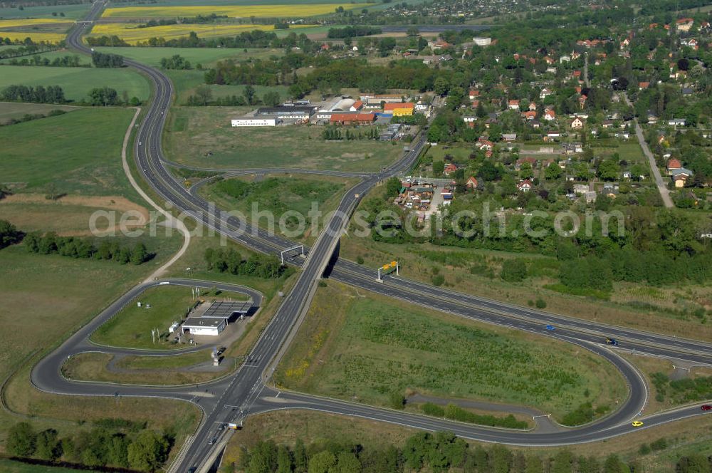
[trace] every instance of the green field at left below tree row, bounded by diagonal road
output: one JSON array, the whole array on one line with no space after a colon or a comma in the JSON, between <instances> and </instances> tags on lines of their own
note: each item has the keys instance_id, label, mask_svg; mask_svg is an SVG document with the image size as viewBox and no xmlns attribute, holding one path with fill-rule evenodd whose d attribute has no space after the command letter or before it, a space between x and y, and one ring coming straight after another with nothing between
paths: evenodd
<instances>
[{"instance_id":1,"label":"green field at left below tree row, bounded by diagonal road","mask_svg":"<svg viewBox=\"0 0 712 473\"><path fill-rule=\"evenodd\" d=\"M0 207L0 218L4 217ZM53 229L51 222L46 222L45 229ZM157 269L180 244L177 237L148 241L147 246L157 255L140 266L28 254L23 246L0 251L0 295L5 301L0 321L6 327L0 334L4 346L0 378L4 379L29 354L48 348L96 316L110 301ZM22 317L17 316L20 313Z\"/></svg>"}]
</instances>

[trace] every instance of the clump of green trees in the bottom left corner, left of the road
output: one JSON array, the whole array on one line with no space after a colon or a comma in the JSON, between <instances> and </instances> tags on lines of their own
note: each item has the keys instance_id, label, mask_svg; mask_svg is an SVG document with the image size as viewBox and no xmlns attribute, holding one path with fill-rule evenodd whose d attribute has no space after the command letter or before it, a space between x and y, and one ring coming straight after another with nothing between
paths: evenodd
<instances>
[{"instance_id":1,"label":"clump of green trees in the bottom left corner, left of the road","mask_svg":"<svg viewBox=\"0 0 712 473\"><path fill-rule=\"evenodd\" d=\"M21 459L155 472L168 459L174 442L170 432L157 432L147 429L145 423L120 419L99 420L95 427L65 437L51 428L38 432L28 422L19 422L10 427L5 448Z\"/></svg>"}]
</instances>

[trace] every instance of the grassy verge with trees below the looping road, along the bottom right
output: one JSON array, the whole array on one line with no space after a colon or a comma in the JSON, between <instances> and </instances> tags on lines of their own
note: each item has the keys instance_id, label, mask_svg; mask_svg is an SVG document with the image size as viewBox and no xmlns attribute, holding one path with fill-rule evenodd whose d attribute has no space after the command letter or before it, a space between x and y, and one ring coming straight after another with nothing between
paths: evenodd
<instances>
[{"instance_id":1,"label":"grassy verge with trees below the looping road, along the bottom right","mask_svg":"<svg viewBox=\"0 0 712 473\"><path fill-rule=\"evenodd\" d=\"M626 442L604 441L572 447L527 448L493 446L483 442L464 445L444 432L425 433L412 429L373 422L359 417L323 414L301 410L268 412L246 420L241 435L234 436L226 449L226 473L251 471L251 462L267 459L270 471L300 471L298 465L320 452L333 454L334 462L346 463L341 452L355 454L350 458L350 472L399 473L409 471L466 471L473 473L520 472L591 472L591 473L669 473L700 472L688 469L699 465L712 453L705 427L691 428L687 422L676 422L666 435L658 430L630 434ZM709 421L706 425L710 425ZM703 431L705 433L701 433ZM430 455L438 446L437 454ZM285 451L290 456L285 455ZM280 454L280 452L282 452ZM302 453L304 452L304 454ZM461 456L455 452L463 453ZM453 456L450 456L453 454ZM421 459L421 469L414 469ZM297 460L299 459L299 460ZM332 461L321 454L313 461ZM413 462L413 463L411 463ZM277 465L283 469L277 470ZM436 466L434 466L436 465ZM270 467L268 467L270 468ZM338 471L338 470L337 470Z\"/></svg>"}]
</instances>

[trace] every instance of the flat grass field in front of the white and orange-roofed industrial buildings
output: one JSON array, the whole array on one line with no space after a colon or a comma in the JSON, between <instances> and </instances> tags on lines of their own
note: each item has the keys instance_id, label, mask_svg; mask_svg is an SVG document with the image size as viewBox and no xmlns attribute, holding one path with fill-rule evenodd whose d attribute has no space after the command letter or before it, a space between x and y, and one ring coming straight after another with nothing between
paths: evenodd
<instances>
[{"instance_id":1,"label":"flat grass field in front of the white and orange-roofed industrial buildings","mask_svg":"<svg viewBox=\"0 0 712 473\"><path fill-rule=\"evenodd\" d=\"M325 141L321 126L231 128L231 118L248 110L251 109L177 108L164 136L167 155L204 167L305 167L363 172L380 170L402 155L402 145L391 142Z\"/></svg>"}]
</instances>

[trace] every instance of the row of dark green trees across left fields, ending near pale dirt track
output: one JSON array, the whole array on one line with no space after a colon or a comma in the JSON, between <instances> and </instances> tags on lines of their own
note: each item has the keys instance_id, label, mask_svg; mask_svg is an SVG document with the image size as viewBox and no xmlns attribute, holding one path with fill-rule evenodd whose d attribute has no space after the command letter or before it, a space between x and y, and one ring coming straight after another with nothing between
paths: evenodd
<instances>
[{"instance_id":1,"label":"row of dark green trees across left fields, ending near pale dirt track","mask_svg":"<svg viewBox=\"0 0 712 473\"><path fill-rule=\"evenodd\" d=\"M71 258L117 261L119 264L143 264L152 259L146 245L120 246L117 241L103 241L98 247L92 240L79 237L59 237L55 232L31 232L23 239L29 253L60 254Z\"/></svg>"}]
</instances>

